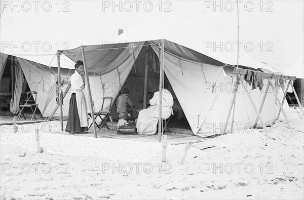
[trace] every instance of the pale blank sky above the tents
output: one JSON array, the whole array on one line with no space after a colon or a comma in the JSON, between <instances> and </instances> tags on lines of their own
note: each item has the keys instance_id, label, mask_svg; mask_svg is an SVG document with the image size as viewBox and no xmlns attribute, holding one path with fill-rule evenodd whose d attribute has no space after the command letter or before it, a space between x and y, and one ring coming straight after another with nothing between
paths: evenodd
<instances>
[{"instance_id":1,"label":"pale blank sky above the tents","mask_svg":"<svg viewBox=\"0 0 304 200\"><path fill-rule=\"evenodd\" d=\"M56 66L58 49L111 42L118 29L140 28L138 20L157 29L151 21L160 18L218 30L236 44L239 13L240 51L284 70L304 52L303 2L239 1L237 12L236 1L1 1L0 51ZM183 37L182 31L173 34ZM214 45L225 49L225 43Z\"/></svg>"}]
</instances>

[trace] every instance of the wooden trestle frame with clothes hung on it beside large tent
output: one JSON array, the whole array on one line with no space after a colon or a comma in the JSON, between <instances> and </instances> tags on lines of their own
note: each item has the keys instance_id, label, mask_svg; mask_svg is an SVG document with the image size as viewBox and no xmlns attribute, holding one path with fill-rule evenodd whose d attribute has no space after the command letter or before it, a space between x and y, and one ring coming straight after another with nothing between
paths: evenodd
<instances>
[{"instance_id":1,"label":"wooden trestle frame with clothes hung on it beside large tent","mask_svg":"<svg viewBox=\"0 0 304 200\"><path fill-rule=\"evenodd\" d=\"M299 99L298 99L298 97L297 97L297 94L296 94L296 92L295 92L295 89L294 89L294 87L293 87L293 81L295 81L295 79L296 79L295 76L287 76L287 75L280 75L280 74L274 74L274 73L264 73L264 72L260 72L260 73L261 73L261 76L262 76L262 79L268 79L268 84L267 84L267 86L266 86L266 90L265 90L265 92L264 92L264 95L263 95L263 98L262 98L262 101L261 101L259 110L257 110L257 107L255 106L254 101L253 101L253 99L251 98L250 93L249 93L249 92L246 90L246 88L245 88L246 82L244 81L244 79L243 79L243 77L242 77L243 75L247 75L248 72L251 72L251 73L253 74L253 73L256 72L256 71L252 71L252 70L249 70L249 69L235 68L233 72L234 72L235 74L237 74L237 82L235 83L235 86L234 86L233 98L232 98L231 103L230 103L229 111L228 111L228 114L227 114L227 117L226 117L226 120L225 120L224 129L223 129L222 134L225 133L225 131L226 131L226 129L227 129L227 123L228 123L228 121L229 121L229 117L230 117L230 115L231 115L232 108L234 107L234 109L235 109L235 102L236 102L236 97L237 97L237 91L238 91L240 82L241 82L241 84L243 85L244 91L245 91L245 93L247 94L248 99L250 100L250 103L251 103L251 105L252 105L252 107L253 107L253 109L254 109L256 115L257 115L257 117L256 117L256 119L255 119L255 123L254 123L253 128L256 128L256 127L257 127L258 121L260 121L260 122L262 123L262 128L263 128L265 134L266 134L270 139L271 139L271 136L269 135L269 132L267 131L267 128L266 128L266 126L265 126L265 123L264 123L263 118L261 117L261 110L262 110L262 108L263 108L263 104L264 104L265 98L266 98L266 96L267 96L267 93L269 92L270 87L272 88L272 92L274 93L275 102L277 102L278 105L279 105L279 107L280 107L279 112L278 112L278 115L277 115L277 117L276 117L276 120L279 119L280 114L281 114L281 112L282 112L282 114L283 114L283 116L284 116L284 118L285 118L285 120L286 120L286 123L287 123L288 127L291 129L290 124L289 124L289 121L288 121L288 118L287 118L287 114L286 114L285 110L283 109L283 104L284 104L284 101L285 101L285 99L286 99L286 94L287 94L287 91L288 91L289 86L291 86L292 91L293 91L293 93L294 93L294 95L295 95L295 97L296 97L297 103L298 103L298 105L299 105L299 107L300 107L300 110L301 110L300 118L301 118L301 119L303 118L303 114L304 114L304 113L303 113L303 108L302 108L302 106L301 106L301 103L300 103L300 101L299 101ZM275 86L274 86L274 84L272 83L272 79L275 80L275 83L276 83ZM286 87L285 91L284 91L284 88L281 87L281 88L282 88L282 91L283 91L283 93L284 93L284 96L283 96L282 99L280 99L280 98L279 98L279 95L278 95L278 87L277 87L277 85L278 85L279 81L282 80L282 79L283 79L286 83L288 82L288 84L287 84L287 87ZM232 118L232 124L233 124L233 121L234 121L234 114L233 114L233 118Z\"/></svg>"}]
</instances>

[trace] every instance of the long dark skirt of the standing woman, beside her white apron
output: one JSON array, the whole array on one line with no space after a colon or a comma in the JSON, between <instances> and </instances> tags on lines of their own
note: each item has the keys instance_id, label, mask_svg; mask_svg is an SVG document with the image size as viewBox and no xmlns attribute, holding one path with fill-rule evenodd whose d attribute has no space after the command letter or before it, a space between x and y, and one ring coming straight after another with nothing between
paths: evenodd
<instances>
[{"instance_id":1,"label":"long dark skirt of the standing woman, beside her white apron","mask_svg":"<svg viewBox=\"0 0 304 200\"><path fill-rule=\"evenodd\" d=\"M73 93L70 98L70 104L69 104L69 109L68 109L68 119L67 119L65 131L69 132L71 134L88 131L88 127L80 127L80 119L79 119L79 115L78 115L75 93Z\"/></svg>"}]
</instances>

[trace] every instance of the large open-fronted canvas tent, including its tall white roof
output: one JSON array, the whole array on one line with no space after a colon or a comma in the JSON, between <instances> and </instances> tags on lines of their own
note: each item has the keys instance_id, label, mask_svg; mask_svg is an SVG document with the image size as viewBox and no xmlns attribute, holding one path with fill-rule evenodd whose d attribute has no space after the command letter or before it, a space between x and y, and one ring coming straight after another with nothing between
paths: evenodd
<instances>
[{"instance_id":1,"label":"large open-fronted canvas tent, including its tall white roof","mask_svg":"<svg viewBox=\"0 0 304 200\"><path fill-rule=\"evenodd\" d=\"M87 70L95 74L89 77L89 81L93 91L93 109L98 111L103 96L116 98L126 80L130 79L128 75L131 73L134 76L136 72L139 74L138 68L144 68L143 64L136 63L138 59L144 60L140 58L144 56L140 51L145 51L149 46L160 57L162 38L165 43L164 71L193 133L200 136L220 133L236 82L236 75L232 71L237 65L237 45L229 51L216 48L219 44L236 44L225 39L219 31L183 19L156 19L147 16L138 20L134 26L124 29L124 33L112 41L63 50L60 53L77 61L83 60L82 48L84 49ZM210 44L212 47L208 48L210 46L206 45ZM244 51L239 54L239 67L276 72ZM136 84L133 81L132 87L136 88ZM280 86L276 87L282 97ZM247 89L258 106L263 91L251 90L250 86ZM157 84L153 92L155 91L158 91ZM242 87L239 87L238 96L235 122L244 128L248 123L254 123L256 114L251 106L247 106L249 99L244 95ZM262 117L265 121L274 121L279 109L273 93L267 96L264 105ZM286 111L287 107L287 103L284 103ZM89 105L88 108L90 109Z\"/></svg>"}]
</instances>

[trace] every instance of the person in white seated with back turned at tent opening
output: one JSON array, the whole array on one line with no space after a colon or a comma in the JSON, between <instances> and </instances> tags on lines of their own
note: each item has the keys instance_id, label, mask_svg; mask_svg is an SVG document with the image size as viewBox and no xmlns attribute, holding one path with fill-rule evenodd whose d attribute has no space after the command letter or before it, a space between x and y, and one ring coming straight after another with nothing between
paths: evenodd
<instances>
[{"instance_id":1,"label":"person in white seated with back turned at tent opening","mask_svg":"<svg viewBox=\"0 0 304 200\"><path fill-rule=\"evenodd\" d=\"M173 97L169 90L167 90L169 83L164 83L164 89L162 90L163 102L162 102L162 118L167 119L173 114ZM139 112L136 129L140 135L154 135L156 133L157 124L159 121L159 98L160 92L155 92L152 99L149 100L150 106L147 109L143 109Z\"/></svg>"}]
</instances>

